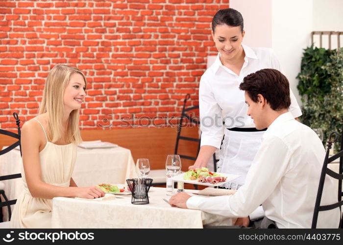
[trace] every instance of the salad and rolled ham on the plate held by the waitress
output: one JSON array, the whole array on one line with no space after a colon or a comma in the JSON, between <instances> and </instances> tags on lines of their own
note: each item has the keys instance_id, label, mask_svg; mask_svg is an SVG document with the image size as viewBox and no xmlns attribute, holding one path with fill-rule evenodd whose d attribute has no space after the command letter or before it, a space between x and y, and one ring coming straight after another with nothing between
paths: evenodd
<instances>
[{"instance_id":1,"label":"salad and rolled ham on the plate held by the waitress","mask_svg":"<svg viewBox=\"0 0 343 245\"><path fill-rule=\"evenodd\" d=\"M219 182L226 181L226 177L221 176L219 173L210 172L208 168L196 168L185 172L183 175L185 180L198 180L200 183L210 183L213 185L218 184Z\"/></svg>"}]
</instances>

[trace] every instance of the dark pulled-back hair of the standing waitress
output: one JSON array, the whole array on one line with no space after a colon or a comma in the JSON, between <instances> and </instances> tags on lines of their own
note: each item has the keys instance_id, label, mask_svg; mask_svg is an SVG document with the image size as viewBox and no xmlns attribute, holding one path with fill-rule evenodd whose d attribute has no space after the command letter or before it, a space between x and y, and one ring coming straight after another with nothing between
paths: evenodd
<instances>
[{"instance_id":1,"label":"dark pulled-back hair of the standing waitress","mask_svg":"<svg viewBox=\"0 0 343 245\"><path fill-rule=\"evenodd\" d=\"M212 19L212 30L216 29L217 25L241 26L243 32L243 17L240 12L233 8L224 8L219 10Z\"/></svg>"}]
</instances>

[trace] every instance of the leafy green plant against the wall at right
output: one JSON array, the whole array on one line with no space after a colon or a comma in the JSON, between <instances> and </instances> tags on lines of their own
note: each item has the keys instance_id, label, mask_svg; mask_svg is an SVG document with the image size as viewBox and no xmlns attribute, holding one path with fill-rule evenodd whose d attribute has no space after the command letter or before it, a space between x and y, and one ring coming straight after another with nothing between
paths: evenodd
<instances>
[{"instance_id":1,"label":"leafy green plant against the wall at right","mask_svg":"<svg viewBox=\"0 0 343 245\"><path fill-rule=\"evenodd\" d=\"M301 96L300 121L311 128L320 128L325 143L331 132L342 133L343 127L343 48L304 49L298 91ZM340 139L335 149L340 147Z\"/></svg>"}]
</instances>

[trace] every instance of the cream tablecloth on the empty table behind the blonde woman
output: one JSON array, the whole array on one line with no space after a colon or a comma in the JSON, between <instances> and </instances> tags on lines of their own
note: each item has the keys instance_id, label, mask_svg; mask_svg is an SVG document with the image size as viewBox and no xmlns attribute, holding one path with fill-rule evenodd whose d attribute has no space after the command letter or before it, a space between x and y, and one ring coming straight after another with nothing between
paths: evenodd
<instances>
[{"instance_id":1,"label":"cream tablecloth on the empty table behind the blonde woman","mask_svg":"<svg viewBox=\"0 0 343 245\"><path fill-rule=\"evenodd\" d=\"M0 175L21 172L19 150L0 156ZM135 164L129 149L113 148L77 148L77 158L73 171L73 180L79 187L94 186L102 183L125 183L127 178L136 177ZM9 200L17 199L23 190L21 178L3 181L5 194ZM14 205L11 206L13 210ZM3 220L8 220L7 207L2 208Z\"/></svg>"}]
</instances>

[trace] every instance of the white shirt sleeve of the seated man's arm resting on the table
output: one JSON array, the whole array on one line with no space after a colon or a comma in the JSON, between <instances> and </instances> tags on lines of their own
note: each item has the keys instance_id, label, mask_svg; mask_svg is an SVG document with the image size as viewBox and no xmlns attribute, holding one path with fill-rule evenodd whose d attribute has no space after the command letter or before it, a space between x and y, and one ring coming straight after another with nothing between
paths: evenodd
<instances>
[{"instance_id":1,"label":"white shirt sleeve of the seated man's arm resting on the table","mask_svg":"<svg viewBox=\"0 0 343 245\"><path fill-rule=\"evenodd\" d=\"M264 140L247 173L245 184L235 195L192 196L187 200L187 207L225 217L247 217L274 191L291 158L290 149L279 138Z\"/></svg>"}]
</instances>

